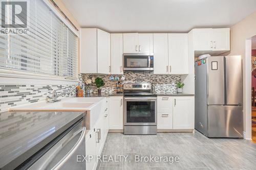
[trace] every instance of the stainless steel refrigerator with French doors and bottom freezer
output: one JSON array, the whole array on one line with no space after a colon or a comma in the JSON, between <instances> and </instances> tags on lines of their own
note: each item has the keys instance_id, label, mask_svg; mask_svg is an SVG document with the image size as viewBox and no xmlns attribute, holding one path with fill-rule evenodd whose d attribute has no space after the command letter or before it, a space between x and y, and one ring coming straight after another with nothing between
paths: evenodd
<instances>
[{"instance_id":1,"label":"stainless steel refrigerator with French doors and bottom freezer","mask_svg":"<svg viewBox=\"0 0 256 170\"><path fill-rule=\"evenodd\" d=\"M195 62L195 128L207 137L243 137L241 56Z\"/></svg>"}]
</instances>

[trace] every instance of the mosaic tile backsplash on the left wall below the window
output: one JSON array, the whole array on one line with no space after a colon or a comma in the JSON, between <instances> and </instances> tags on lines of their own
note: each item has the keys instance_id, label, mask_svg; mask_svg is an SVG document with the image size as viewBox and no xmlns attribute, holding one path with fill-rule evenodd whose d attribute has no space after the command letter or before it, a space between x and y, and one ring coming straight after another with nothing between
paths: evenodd
<instances>
[{"instance_id":1,"label":"mosaic tile backsplash on the left wall below the window","mask_svg":"<svg viewBox=\"0 0 256 170\"><path fill-rule=\"evenodd\" d=\"M68 90L62 96L75 96L74 85L14 85L0 84L0 112L7 111L8 108L18 105L45 101L51 98L52 91L60 89L57 93Z\"/></svg>"}]
</instances>

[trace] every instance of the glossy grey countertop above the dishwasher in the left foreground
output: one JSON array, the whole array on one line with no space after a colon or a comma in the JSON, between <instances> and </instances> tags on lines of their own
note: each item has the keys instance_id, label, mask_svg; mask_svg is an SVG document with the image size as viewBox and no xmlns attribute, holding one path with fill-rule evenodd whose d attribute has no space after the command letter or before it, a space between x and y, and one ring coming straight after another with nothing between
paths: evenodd
<instances>
[{"instance_id":1,"label":"glossy grey countertop above the dishwasher in the left foreground","mask_svg":"<svg viewBox=\"0 0 256 170\"><path fill-rule=\"evenodd\" d=\"M0 113L0 169L13 169L72 126L84 112Z\"/></svg>"}]
</instances>

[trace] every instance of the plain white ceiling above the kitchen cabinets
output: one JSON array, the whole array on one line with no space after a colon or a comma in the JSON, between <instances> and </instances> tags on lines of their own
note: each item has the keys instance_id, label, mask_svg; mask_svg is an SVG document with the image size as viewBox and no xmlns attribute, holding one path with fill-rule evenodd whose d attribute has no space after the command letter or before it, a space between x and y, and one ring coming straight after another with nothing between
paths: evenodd
<instances>
[{"instance_id":1,"label":"plain white ceiling above the kitchen cabinets","mask_svg":"<svg viewBox=\"0 0 256 170\"><path fill-rule=\"evenodd\" d=\"M230 27L256 11L255 0L62 0L81 27L109 32L188 32Z\"/></svg>"}]
</instances>

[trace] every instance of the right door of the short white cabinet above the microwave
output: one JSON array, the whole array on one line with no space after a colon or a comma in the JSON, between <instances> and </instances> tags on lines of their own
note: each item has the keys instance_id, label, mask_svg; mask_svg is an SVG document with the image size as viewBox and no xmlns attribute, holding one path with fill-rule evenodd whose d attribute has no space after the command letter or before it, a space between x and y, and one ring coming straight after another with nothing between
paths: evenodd
<instances>
[{"instance_id":1,"label":"right door of the short white cabinet above the microwave","mask_svg":"<svg viewBox=\"0 0 256 170\"><path fill-rule=\"evenodd\" d=\"M139 34L139 53L153 53L153 34Z\"/></svg>"}]
</instances>

